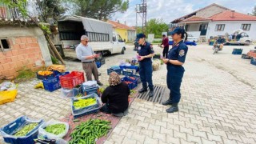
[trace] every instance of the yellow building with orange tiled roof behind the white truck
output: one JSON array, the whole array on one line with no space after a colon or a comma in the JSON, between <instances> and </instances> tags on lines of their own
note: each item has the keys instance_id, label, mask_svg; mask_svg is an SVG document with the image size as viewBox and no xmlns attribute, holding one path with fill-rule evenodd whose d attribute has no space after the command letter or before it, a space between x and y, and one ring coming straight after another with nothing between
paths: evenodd
<instances>
[{"instance_id":1,"label":"yellow building with orange tiled roof behind the white truck","mask_svg":"<svg viewBox=\"0 0 256 144\"><path fill-rule=\"evenodd\" d=\"M107 22L113 26L114 30L121 36L122 39L125 39L126 42L134 42L136 38L136 30L134 27L110 20Z\"/></svg>"}]
</instances>

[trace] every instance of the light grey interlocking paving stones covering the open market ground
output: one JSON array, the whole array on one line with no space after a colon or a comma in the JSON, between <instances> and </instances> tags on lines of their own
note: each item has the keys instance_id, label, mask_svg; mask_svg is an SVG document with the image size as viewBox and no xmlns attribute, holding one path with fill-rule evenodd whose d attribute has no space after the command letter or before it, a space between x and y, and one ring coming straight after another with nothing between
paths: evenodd
<instances>
[{"instance_id":1,"label":"light grey interlocking paving stones covering the open market ground","mask_svg":"<svg viewBox=\"0 0 256 144\"><path fill-rule=\"evenodd\" d=\"M256 66L232 55L234 47L247 52L254 46L225 46L214 55L211 46L190 46L179 112L166 114L168 106L135 99L105 143L256 143ZM131 46L125 55L107 56L100 80L106 84L106 69L132 57ZM80 62L67 61L66 68L82 71ZM166 66L154 71L153 81L166 86ZM34 90L37 82L20 83L18 98L0 106L0 127L21 115L47 121L71 113L70 99L62 98L61 90Z\"/></svg>"}]
</instances>

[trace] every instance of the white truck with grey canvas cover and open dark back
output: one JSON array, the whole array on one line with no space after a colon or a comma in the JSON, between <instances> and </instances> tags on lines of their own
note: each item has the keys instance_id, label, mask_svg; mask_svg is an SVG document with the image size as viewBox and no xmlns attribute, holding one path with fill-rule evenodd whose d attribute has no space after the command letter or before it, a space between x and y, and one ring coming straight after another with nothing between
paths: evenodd
<instances>
[{"instance_id":1,"label":"white truck with grey canvas cover and open dark back","mask_svg":"<svg viewBox=\"0 0 256 144\"><path fill-rule=\"evenodd\" d=\"M62 48L74 48L82 35L89 37L89 45L96 54L125 54L126 45L111 24L93 18L63 15L58 19L58 34Z\"/></svg>"}]
</instances>

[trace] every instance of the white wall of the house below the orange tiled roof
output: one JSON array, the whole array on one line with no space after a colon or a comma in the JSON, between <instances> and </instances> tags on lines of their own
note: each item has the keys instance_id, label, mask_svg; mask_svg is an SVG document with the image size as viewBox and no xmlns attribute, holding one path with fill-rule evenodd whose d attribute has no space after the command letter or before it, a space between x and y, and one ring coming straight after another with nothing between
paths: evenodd
<instances>
[{"instance_id":1,"label":"white wall of the house below the orange tiled roof","mask_svg":"<svg viewBox=\"0 0 256 144\"><path fill-rule=\"evenodd\" d=\"M224 30L215 31L215 26L217 24L225 24ZM224 35L226 33L233 34L234 30L240 29L242 24L251 24L250 30L245 32L249 35L250 38L256 41L256 22L209 22L206 38L208 39L210 36Z\"/></svg>"}]
</instances>

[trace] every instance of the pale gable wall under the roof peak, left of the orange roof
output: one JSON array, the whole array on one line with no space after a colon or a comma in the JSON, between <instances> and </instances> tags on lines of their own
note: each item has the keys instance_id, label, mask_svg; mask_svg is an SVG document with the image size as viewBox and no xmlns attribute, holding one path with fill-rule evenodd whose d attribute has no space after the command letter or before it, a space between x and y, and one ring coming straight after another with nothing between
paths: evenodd
<instances>
[{"instance_id":1,"label":"pale gable wall under the roof peak, left of the orange roof","mask_svg":"<svg viewBox=\"0 0 256 144\"><path fill-rule=\"evenodd\" d=\"M206 8L205 10L200 10L197 12L196 16L202 17L202 18L209 18L213 16L214 14L221 13L222 11L225 11L226 9L223 9L218 6L210 6Z\"/></svg>"}]
</instances>

